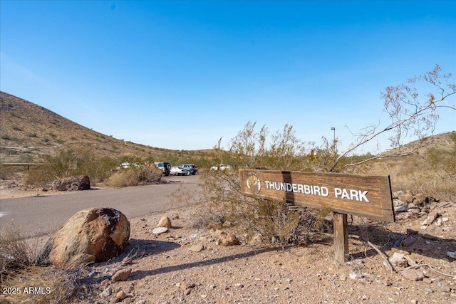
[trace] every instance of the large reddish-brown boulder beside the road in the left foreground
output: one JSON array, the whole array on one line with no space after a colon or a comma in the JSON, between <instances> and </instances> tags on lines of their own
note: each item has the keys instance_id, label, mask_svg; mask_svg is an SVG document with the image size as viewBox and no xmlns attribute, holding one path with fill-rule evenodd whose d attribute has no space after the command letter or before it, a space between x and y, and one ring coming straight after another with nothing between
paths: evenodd
<instances>
[{"instance_id":1,"label":"large reddish-brown boulder beside the road in the left foreground","mask_svg":"<svg viewBox=\"0 0 456 304\"><path fill-rule=\"evenodd\" d=\"M46 243L41 257L59 268L107 261L120 255L130 239L130 222L113 208L79 211Z\"/></svg>"}]
</instances>

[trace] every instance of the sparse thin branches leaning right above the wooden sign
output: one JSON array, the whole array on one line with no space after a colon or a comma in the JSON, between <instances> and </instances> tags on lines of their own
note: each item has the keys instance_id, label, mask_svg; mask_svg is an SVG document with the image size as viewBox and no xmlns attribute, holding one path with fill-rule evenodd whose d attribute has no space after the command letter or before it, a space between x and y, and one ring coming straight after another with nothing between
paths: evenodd
<instances>
[{"instance_id":1,"label":"sparse thin branches leaning right above the wooden sign","mask_svg":"<svg viewBox=\"0 0 456 304\"><path fill-rule=\"evenodd\" d=\"M447 103L447 100L456 94L456 84L449 83L452 76L450 73L442 75L441 71L440 65L436 64L435 68L425 73L425 75L415 75L410 78L408 85L400 84L385 88L382 93L382 98L385 100L383 110L388 113L391 120L390 124L380 130L377 130L378 126L366 127L357 135L358 140L348 150L336 157L329 168L329 172L332 172L347 154L371 142L371 140L383 135L383 133L393 132L389 139L390 146L399 150L398 155L395 155L395 157L409 154L403 154L400 151L403 145L402 142L408 135L418 136L419 140L431 135L440 118L438 110L456 110L456 105ZM435 89L435 93L420 94L418 88L421 89L421 87L417 83L431 85L431 88ZM343 167L354 166L379 158L384 157L371 157L359 163L346 164Z\"/></svg>"}]
</instances>

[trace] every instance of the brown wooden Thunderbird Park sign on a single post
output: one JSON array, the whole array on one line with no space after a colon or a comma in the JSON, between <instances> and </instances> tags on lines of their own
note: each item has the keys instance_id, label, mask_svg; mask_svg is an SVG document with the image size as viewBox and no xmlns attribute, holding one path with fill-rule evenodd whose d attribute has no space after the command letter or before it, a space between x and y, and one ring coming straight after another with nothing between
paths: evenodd
<instances>
[{"instance_id":1,"label":"brown wooden Thunderbird Park sign on a single post","mask_svg":"<svg viewBox=\"0 0 456 304\"><path fill-rule=\"evenodd\" d=\"M333 211L334 254L348 258L347 214L394 222L390 177L239 169L244 194Z\"/></svg>"}]
</instances>

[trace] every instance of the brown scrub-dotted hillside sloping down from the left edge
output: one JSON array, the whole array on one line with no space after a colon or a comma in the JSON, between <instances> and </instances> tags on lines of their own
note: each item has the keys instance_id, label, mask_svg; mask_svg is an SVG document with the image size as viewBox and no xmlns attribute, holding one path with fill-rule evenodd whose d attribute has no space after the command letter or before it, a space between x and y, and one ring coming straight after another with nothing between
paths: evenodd
<instances>
[{"instance_id":1,"label":"brown scrub-dotted hillside sloping down from the left edge","mask_svg":"<svg viewBox=\"0 0 456 304\"><path fill-rule=\"evenodd\" d=\"M89 149L100 156L133 155L154 160L190 161L211 150L167 150L101 134L46 108L0 91L0 162L38 162L58 150Z\"/></svg>"}]
</instances>

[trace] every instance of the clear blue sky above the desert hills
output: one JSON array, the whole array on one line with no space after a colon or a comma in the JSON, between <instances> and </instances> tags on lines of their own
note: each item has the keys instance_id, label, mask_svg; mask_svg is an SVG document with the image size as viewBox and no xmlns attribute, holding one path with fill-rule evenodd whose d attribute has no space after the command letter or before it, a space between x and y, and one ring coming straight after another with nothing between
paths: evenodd
<instances>
[{"instance_id":1,"label":"clear blue sky above the desert hills","mask_svg":"<svg viewBox=\"0 0 456 304\"><path fill-rule=\"evenodd\" d=\"M336 127L343 150L349 130L388 122L386 86L435 63L456 73L456 1L1 0L0 11L1 90L152 147L227 147L250 120L294 125L305 142ZM436 132L452 130L455 111Z\"/></svg>"}]
</instances>

